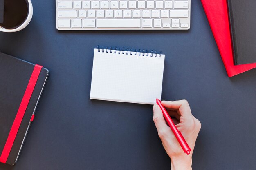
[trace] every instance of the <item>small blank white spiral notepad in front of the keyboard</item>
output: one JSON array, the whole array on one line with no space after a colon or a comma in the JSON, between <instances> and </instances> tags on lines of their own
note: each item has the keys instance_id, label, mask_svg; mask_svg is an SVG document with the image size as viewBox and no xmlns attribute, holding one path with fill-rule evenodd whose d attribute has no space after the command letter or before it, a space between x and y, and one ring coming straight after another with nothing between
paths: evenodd
<instances>
[{"instance_id":1,"label":"small blank white spiral notepad in front of the keyboard","mask_svg":"<svg viewBox=\"0 0 256 170\"><path fill-rule=\"evenodd\" d=\"M96 48L90 99L155 104L161 99L163 72L161 52Z\"/></svg>"}]
</instances>

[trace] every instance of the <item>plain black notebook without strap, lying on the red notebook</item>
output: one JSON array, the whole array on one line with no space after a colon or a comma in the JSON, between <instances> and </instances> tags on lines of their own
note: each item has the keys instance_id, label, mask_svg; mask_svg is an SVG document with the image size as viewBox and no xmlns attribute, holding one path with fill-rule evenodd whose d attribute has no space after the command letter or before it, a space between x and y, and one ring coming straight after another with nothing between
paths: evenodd
<instances>
[{"instance_id":1,"label":"plain black notebook without strap, lying on the red notebook","mask_svg":"<svg viewBox=\"0 0 256 170\"><path fill-rule=\"evenodd\" d=\"M234 64L256 62L256 0L228 0Z\"/></svg>"}]
</instances>

